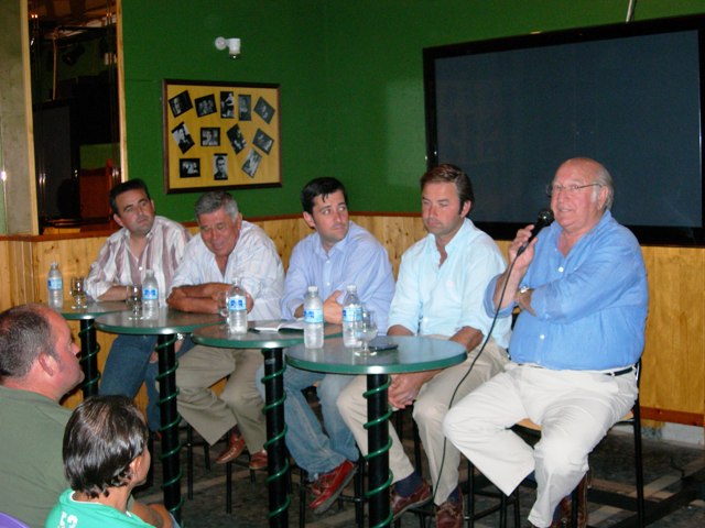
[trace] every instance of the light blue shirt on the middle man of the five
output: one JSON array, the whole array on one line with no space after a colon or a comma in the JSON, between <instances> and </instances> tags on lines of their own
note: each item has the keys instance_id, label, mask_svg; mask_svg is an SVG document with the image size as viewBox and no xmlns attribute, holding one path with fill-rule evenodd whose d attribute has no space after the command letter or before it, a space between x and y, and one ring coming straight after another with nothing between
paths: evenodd
<instances>
[{"instance_id":1,"label":"light blue shirt on the middle man of the five","mask_svg":"<svg viewBox=\"0 0 705 528\"><path fill-rule=\"evenodd\" d=\"M318 233L312 233L299 242L291 254L282 296L282 317L293 319L294 311L303 305L306 288L318 286L318 295L325 301L336 289L357 286L362 304L377 315L380 333L387 330L389 304L394 295L394 277L389 255L382 244L367 230L350 222L348 234L326 253Z\"/></svg>"}]
</instances>

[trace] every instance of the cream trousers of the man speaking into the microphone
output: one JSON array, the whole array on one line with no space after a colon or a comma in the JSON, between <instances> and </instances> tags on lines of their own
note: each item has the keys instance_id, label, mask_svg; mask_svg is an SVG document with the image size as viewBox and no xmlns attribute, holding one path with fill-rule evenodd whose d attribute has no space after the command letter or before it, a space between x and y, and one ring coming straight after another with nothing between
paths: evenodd
<instances>
[{"instance_id":1,"label":"cream trousers of the man speaking into the microphone","mask_svg":"<svg viewBox=\"0 0 705 528\"><path fill-rule=\"evenodd\" d=\"M510 363L453 406L444 426L448 439L506 495L533 471L536 502L529 520L547 527L561 499L585 475L588 454L637 394L633 373L606 376ZM533 448L510 429L523 418L542 426Z\"/></svg>"}]
</instances>

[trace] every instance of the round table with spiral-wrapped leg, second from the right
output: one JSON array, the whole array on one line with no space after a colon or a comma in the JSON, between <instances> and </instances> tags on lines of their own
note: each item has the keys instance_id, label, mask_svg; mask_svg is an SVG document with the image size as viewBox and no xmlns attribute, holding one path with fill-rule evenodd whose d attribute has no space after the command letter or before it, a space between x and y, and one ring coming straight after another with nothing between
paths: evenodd
<instances>
[{"instance_id":1,"label":"round table with spiral-wrapped leg, second from the right","mask_svg":"<svg viewBox=\"0 0 705 528\"><path fill-rule=\"evenodd\" d=\"M289 526L289 459L286 458L284 438L284 372L283 349L303 343L302 331L256 331L254 326L272 321L249 323L246 334L231 334L227 324L199 328L192 334L194 343L221 349L260 349L264 356L264 413L267 415L267 457L269 483L269 525ZM340 327L326 324L326 339L340 334Z\"/></svg>"}]
</instances>

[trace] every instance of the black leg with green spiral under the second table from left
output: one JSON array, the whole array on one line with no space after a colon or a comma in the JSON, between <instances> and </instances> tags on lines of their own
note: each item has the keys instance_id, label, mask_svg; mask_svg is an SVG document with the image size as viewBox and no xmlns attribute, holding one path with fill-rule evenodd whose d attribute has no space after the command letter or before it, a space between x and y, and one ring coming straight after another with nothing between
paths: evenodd
<instances>
[{"instance_id":1,"label":"black leg with green spiral under the second table from left","mask_svg":"<svg viewBox=\"0 0 705 528\"><path fill-rule=\"evenodd\" d=\"M159 336L159 407L161 413L160 432L162 435L162 471L164 482L164 506L181 522L181 508L184 501L181 496L181 441L178 440L178 422L181 417L176 410L176 355L174 343L176 336Z\"/></svg>"}]
</instances>

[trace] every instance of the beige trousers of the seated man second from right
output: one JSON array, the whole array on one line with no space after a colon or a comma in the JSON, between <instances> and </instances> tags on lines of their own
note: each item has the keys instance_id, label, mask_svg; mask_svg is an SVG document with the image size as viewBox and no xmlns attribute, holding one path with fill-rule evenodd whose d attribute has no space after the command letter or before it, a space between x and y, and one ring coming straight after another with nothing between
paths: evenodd
<instances>
[{"instance_id":1,"label":"beige trousers of the seated man second from right","mask_svg":"<svg viewBox=\"0 0 705 528\"><path fill-rule=\"evenodd\" d=\"M473 366L470 374L463 380L477 352L478 349L475 349L465 362L445 369L436 374L433 380L426 382L421 387L414 402L413 418L419 426L419 436L429 459L431 479L434 486L437 487L435 494L435 503L437 505L443 504L451 495L451 492L458 485L460 453L451 442L445 441L442 427L443 418L449 408L453 392L459 384L453 400L454 404L457 404L473 389L501 372L508 361L505 349L498 346L494 340L490 340L482 355ZM355 435L360 451L367 455L369 450L367 446L367 429L364 427L367 421L367 400L362 396L365 391L367 391L367 378L359 376L354 380L338 396L338 409L352 435ZM411 475L414 466L404 453L404 448L391 424L389 425L389 436L392 441L389 451L389 469L392 471L393 482L398 482ZM444 443L445 460L443 461L442 471L441 462ZM441 475L441 479L438 479L438 475Z\"/></svg>"}]
</instances>

